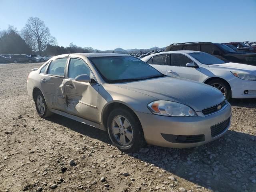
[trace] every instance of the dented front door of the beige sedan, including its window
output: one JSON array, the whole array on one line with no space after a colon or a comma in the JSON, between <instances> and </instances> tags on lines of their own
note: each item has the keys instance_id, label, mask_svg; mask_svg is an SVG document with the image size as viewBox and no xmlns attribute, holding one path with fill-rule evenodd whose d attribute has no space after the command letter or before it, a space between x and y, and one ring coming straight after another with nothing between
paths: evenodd
<instances>
[{"instance_id":1,"label":"dented front door of the beige sedan, including its window","mask_svg":"<svg viewBox=\"0 0 256 192\"><path fill-rule=\"evenodd\" d=\"M89 66L81 59L70 58L67 78L64 79L65 111L92 122L99 122L98 118L98 90L99 85ZM93 82L78 82L75 78L87 74Z\"/></svg>"}]
</instances>

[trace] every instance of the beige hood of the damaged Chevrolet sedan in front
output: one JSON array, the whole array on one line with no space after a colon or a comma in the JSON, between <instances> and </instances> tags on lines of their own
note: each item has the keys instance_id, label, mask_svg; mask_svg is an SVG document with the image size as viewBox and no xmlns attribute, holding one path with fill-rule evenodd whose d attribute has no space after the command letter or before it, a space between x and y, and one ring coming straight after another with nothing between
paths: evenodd
<instances>
[{"instance_id":1,"label":"beige hood of the damaged Chevrolet sedan in front","mask_svg":"<svg viewBox=\"0 0 256 192\"><path fill-rule=\"evenodd\" d=\"M176 77L162 77L112 85L152 96L156 100L179 102L192 107L195 111L217 105L225 99L216 88Z\"/></svg>"}]
</instances>

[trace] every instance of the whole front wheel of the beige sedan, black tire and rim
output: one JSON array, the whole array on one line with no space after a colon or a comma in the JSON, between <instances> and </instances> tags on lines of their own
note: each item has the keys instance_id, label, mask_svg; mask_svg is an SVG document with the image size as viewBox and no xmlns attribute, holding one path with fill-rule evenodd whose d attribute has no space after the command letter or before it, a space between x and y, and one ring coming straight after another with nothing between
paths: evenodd
<instances>
[{"instance_id":1,"label":"whole front wheel of the beige sedan, black tire and rim","mask_svg":"<svg viewBox=\"0 0 256 192\"><path fill-rule=\"evenodd\" d=\"M114 146L122 152L135 152L146 143L137 116L123 108L110 112L108 135Z\"/></svg>"}]
</instances>

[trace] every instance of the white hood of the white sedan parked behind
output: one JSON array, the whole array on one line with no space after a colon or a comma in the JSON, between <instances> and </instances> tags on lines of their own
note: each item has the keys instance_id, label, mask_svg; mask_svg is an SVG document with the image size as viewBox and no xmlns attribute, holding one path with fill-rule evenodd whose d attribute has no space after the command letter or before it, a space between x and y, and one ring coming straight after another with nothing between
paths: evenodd
<instances>
[{"instance_id":1,"label":"white hood of the white sedan parked behind","mask_svg":"<svg viewBox=\"0 0 256 192\"><path fill-rule=\"evenodd\" d=\"M236 70L242 71L247 73L255 73L256 66L247 65L247 64L240 64L240 63L223 63L223 64L214 64L208 65L209 68L219 68L221 70Z\"/></svg>"}]
</instances>

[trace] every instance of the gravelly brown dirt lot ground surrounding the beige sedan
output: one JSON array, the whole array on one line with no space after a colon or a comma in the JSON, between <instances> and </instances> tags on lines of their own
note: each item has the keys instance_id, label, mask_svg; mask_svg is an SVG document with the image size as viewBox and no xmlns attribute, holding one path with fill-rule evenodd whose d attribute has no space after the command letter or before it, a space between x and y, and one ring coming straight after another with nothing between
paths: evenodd
<instances>
[{"instance_id":1,"label":"gravelly brown dirt lot ground surrounding the beige sedan","mask_svg":"<svg viewBox=\"0 0 256 192\"><path fill-rule=\"evenodd\" d=\"M40 65L0 65L0 192L256 192L255 99L231 102L230 130L212 143L124 154L104 131L37 115L26 78Z\"/></svg>"}]
</instances>

